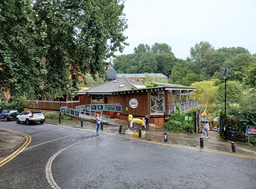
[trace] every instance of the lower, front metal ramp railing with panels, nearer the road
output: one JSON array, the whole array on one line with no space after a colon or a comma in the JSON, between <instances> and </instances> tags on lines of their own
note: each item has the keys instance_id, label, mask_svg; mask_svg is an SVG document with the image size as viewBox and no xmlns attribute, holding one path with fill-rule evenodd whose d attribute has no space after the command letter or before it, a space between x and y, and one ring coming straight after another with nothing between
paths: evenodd
<instances>
[{"instance_id":1,"label":"lower, front metal ramp railing with panels, nearer the road","mask_svg":"<svg viewBox=\"0 0 256 189\"><path fill-rule=\"evenodd\" d=\"M86 112L86 111L81 111L79 109L70 109L67 106L64 107L60 107L61 112L65 112L66 115L68 116L72 116L75 118L79 118L79 119L84 119L84 120L96 120L96 112L98 111L90 111L90 112ZM110 116L100 114L101 117L101 121L110 124Z\"/></svg>"}]
</instances>

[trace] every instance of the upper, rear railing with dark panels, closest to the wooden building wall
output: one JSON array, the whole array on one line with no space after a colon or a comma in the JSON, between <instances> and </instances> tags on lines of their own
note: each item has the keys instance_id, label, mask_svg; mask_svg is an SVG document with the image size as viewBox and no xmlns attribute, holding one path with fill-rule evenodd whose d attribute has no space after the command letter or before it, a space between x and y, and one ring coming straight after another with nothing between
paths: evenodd
<instances>
[{"instance_id":1,"label":"upper, rear railing with dark panels, closest to the wooden building wall","mask_svg":"<svg viewBox=\"0 0 256 189\"><path fill-rule=\"evenodd\" d=\"M83 112L122 112L122 105L120 103L112 104L85 104L76 106L76 110Z\"/></svg>"}]
</instances>

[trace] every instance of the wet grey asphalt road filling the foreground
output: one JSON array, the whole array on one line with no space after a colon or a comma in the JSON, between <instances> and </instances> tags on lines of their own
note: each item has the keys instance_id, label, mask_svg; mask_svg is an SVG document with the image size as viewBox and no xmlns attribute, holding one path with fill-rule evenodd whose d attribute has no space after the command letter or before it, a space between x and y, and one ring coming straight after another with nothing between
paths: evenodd
<instances>
[{"instance_id":1,"label":"wet grey asphalt road filling the foreground","mask_svg":"<svg viewBox=\"0 0 256 189\"><path fill-rule=\"evenodd\" d=\"M255 188L256 185L256 159L103 133L96 136L94 131L50 124L27 126L0 121L0 127L32 137L22 153L0 168L0 188L51 188L48 174L53 175L53 182L61 188ZM51 170L46 171L49 165Z\"/></svg>"}]
</instances>

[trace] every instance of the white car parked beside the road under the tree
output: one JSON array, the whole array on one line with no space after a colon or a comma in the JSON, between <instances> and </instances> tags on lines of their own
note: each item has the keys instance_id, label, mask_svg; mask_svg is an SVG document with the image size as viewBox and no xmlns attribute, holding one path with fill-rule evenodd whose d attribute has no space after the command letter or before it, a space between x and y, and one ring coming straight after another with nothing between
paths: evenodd
<instances>
[{"instance_id":1,"label":"white car parked beside the road under the tree","mask_svg":"<svg viewBox=\"0 0 256 189\"><path fill-rule=\"evenodd\" d=\"M44 123L45 120L45 115L40 111L25 111L16 117L16 123L25 122L26 125L34 122Z\"/></svg>"}]
</instances>

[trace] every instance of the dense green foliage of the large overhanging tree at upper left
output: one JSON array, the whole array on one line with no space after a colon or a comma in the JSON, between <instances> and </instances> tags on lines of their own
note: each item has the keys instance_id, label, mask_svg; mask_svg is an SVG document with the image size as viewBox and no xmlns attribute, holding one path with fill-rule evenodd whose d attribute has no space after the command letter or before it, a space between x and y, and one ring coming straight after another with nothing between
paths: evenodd
<instances>
[{"instance_id":1,"label":"dense green foliage of the large overhanging tree at upper left","mask_svg":"<svg viewBox=\"0 0 256 189\"><path fill-rule=\"evenodd\" d=\"M90 68L105 74L127 28L119 0L2 1L0 89L53 98L78 90Z\"/></svg>"}]
</instances>

